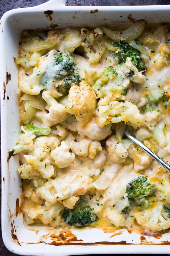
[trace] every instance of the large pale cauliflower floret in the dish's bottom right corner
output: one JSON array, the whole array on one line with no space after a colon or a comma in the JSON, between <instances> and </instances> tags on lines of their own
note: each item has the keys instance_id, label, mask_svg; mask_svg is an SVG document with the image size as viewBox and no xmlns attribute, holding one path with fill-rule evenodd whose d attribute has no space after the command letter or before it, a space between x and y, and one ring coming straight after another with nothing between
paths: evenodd
<instances>
[{"instance_id":1,"label":"large pale cauliflower floret in the dish's bottom right corner","mask_svg":"<svg viewBox=\"0 0 170 256\"><path fill-rule=\"evenodd\" d=\"M134 211L133 215L135 215L139 225L156 232L170 227L170 218L166 220L162 216L162 211L163 203L155 202L154 207L151 205L151 207L148 207L148 209L144 211Z\"/></svg>"}]
</instances>

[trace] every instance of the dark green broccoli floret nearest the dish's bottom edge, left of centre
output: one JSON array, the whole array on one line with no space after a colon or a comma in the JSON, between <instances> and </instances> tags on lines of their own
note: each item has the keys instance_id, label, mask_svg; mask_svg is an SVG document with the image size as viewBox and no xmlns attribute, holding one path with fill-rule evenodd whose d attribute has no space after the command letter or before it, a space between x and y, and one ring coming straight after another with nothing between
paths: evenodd
<instances>
[{"instance_id":1,"label":"dark green broccoli floret nearest the dish's bottom edge, left of centre","mask_svg":"<svg viewBox=\"0 0 170 256\"><path fill-rule=\"evenodd\" d=\"M80 202L79 202L80 201ZM79 199L73 209L64 208L62 217L70 226L87 226L99 218L84 200Z\"/></svg>"}]
</instances>

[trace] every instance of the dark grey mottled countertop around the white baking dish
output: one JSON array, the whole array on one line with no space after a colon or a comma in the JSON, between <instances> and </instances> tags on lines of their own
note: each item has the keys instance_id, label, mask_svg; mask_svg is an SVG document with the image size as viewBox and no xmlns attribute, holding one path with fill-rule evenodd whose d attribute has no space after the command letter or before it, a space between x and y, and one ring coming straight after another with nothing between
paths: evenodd
<instances>
[{"instance_id":1,"label":"dark grey mottled countertop around the white baking dish","mask_svg":"<svg viewBox=\"0 0 170 256\"><path fill-rule=\"evenodd\" d=\"M31 7L35 5L40 5L41 3L45 3L45 2L46 0L0 0L0 18L8 10L15 9L15 8L22 8L22 7ZM166 4L170 4L170 0L148 0L148 1L145 1L145 0L67 0L67 5L166 5ZM17 255L9 252L5 248L5 245L2 241L1 229L0 229L0 255L2 256Z\"/></svg>"}]
</instances>

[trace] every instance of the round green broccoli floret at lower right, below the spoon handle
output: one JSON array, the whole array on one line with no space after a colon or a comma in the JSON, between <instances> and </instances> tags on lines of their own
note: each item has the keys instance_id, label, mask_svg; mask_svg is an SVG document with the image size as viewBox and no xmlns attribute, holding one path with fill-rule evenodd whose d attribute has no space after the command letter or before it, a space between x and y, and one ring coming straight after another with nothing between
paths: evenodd
<instances>
[{"instance_id":1,"label":"round green broccoli floret at lower right, below the spoon handle","mask_svg":"<svg viewBox=\"0 0 170 256\"><path fill-rule=\"evenodd\" d=\"M139 176L126 185L126 193L129 199L133 199L138 205L147 207L149 201L147 197L153 195L155 188L147 181L147 177Z\"/></svg>"}]
</instances>

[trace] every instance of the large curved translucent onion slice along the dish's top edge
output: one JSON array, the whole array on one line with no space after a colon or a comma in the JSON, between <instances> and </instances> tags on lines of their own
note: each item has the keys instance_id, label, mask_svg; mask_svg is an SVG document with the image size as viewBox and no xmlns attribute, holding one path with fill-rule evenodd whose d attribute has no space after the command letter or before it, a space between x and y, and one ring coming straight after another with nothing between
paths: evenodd
<instances>
[{"instance_id":1,"label":"large curved translucent onion slice along the dish's top edge","mask_svg":"<svg viewBox=\"0 0 170 256\"><path fill-rule=\"evenodd\" d=\"M113 41L119 42L119 41L131 41L136 38L138 38L146 25L146 21L136 21L133 23L130 27L125 29L124 31L112 31L110 29L107 29L107 27L101 27L101 30L107 35L107 37L111 38Z\"/></svg>"}]
</instances>

